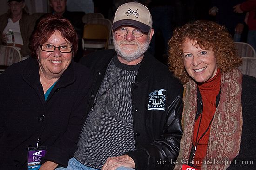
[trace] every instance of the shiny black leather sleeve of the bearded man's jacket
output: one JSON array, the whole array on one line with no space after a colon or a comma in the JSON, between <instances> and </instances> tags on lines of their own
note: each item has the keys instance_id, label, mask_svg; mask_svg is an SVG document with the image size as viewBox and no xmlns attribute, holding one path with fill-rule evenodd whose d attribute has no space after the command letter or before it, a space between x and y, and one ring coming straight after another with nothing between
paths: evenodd
<instances>
[{"instance_id":1,"label":"shiny black leather sleeve of the bearded man's jacket","mask_svg":"<svg viewBox=\"0 0 256 170\"><path fill-rule=\"evenodd\" d=\"M167 119L161 138L153 143L125 154L133 158L136 170L170 170L180 151L183 135L181 116L182 96L177 96L168 107Z\"/></svg>"}]
</instances>

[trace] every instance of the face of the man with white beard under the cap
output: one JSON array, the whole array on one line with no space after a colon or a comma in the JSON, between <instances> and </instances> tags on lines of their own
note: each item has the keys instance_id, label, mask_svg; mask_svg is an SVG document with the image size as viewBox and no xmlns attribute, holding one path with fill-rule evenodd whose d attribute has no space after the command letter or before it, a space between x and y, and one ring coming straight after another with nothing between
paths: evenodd
<instances>
[{"instance_id":1,"label":"face of the man with white beard under the cap","mask_svg":"<svg viewBox=\"0 0 256 170\"><path fill-rule=\"evenodd\" d=\"M151 38L154 34L154 30L152 29L148 34L144 34L141 37L136 38L132 34L132 30L138 28L130 26L124 26L122 28L130 30L128 31L127 35L119 36L113 32L113 42L119 60L121 58L125 61L132 62L142 58L144 53L148 50Z\"/></svg>"}]
</instances>

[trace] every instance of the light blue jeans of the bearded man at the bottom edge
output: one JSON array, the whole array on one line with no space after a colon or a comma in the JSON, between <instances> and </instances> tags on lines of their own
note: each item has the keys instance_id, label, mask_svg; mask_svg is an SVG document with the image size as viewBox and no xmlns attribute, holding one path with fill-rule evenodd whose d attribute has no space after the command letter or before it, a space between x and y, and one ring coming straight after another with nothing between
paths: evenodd
<instances>
[{"instance_id":1,"label":"light blue jeans of the bearded man at the bottom edge","mask_svg":"<svg viewBox=\"0 0 256 170\"><path fill-rule=\"evenodd\" d=\"M91 167L87 167L83 164L81 164L78 160L76 160L74 157L69 159L67 168L56 168L55 170L99 170ZM118 167L116 170L135 170L132 168L126 168L126 167Z\"/></svg>"}]
</instances>

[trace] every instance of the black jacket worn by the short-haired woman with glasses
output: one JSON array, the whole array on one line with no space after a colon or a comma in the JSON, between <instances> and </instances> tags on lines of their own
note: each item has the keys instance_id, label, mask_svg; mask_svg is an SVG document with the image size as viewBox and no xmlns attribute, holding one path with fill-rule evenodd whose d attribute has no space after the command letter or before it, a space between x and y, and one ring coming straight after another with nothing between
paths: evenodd
<instances>
[{"instance_id":1,"label":"black jacket worn by the short-haired woman with glasses","mask_svg":"<svg viewBox=\"0 0 256 170\"><path fill-rule=\"evenodd\" d=\"M47 100L35 59L15 63L0 75L0 169L27 170L27 149L47 146L43 161L67 167L86 116L88 68L71 62Z\"/></svg>"}]
</instances>

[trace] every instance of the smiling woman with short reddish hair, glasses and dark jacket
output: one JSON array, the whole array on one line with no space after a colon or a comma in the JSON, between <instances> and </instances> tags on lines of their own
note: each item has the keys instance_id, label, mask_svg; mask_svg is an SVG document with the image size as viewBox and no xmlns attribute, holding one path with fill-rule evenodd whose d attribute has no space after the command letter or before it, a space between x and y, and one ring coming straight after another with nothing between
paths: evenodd
<instances>
[{"instance_id":1,"label":"smiling woman with short reddish hair, glasses and dark jacket","mask_svg":"<svg viewBox=\"0 0 256 170\"><path fill-rule=\"evenodd\" d=\"M67 166L86 115L92 81L88 68L72 60L77 34L71 23L45 15L29 48L32 57L0 74L1 170L27 170L27 160L34 163L38 157L42 157L40 170ZM27 159L28 148L33 147L39 150L33 154L38 157ZM39 166L40 160L36 163Z\"/></svg>"}]
</instances>

